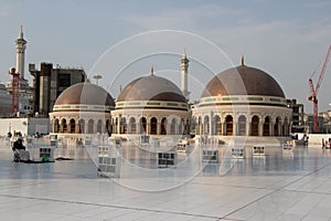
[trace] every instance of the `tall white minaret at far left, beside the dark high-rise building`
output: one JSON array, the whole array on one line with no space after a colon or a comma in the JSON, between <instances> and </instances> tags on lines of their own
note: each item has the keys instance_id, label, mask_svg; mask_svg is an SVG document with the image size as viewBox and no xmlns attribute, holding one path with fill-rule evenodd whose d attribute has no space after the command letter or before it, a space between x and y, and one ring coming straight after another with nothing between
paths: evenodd
<instances>
[{"instance_id":1,"label":"tall white minaret at far left, beside the dark high-rise building","mask_svg":"<svg viewBox=\"0 0 331 221\"><path fill-rule=\"evenodd\" d=\"M26 41L23 39L23 28L20 27L20 34L15 41L17 49L17 72L20 74L20 78L24 78L24 59L25 59L25 49Z\"/></svg>"}]
</instances>

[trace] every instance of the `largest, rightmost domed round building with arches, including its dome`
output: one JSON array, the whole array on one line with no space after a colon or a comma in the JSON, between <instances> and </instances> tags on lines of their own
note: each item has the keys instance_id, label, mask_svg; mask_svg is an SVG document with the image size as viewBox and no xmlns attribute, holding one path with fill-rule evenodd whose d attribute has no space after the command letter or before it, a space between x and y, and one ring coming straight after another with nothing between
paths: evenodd
<instances>
[{"instance_id":1,"label":"largest, rightmost domed round building with arches, including its dome","mask_svg":"<svg viewBox=\"0 0 331 221\"><path fill-rule=\"evenodd\" d=\"M288 136L291 109L266 72L244 64L214 76L193 108L195 135Z\"/></svg>"}]
</instances>

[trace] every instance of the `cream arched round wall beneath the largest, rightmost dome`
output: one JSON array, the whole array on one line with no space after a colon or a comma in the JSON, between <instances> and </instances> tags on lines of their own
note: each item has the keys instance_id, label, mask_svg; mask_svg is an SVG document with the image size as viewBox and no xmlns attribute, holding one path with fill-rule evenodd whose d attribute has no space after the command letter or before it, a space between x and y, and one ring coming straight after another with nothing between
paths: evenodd
<instances>
[{"instance_id":1,"label":"cream arched round wall beneath the largest, rightmost dome","mask_svg":"<svg viewBox=\"0 0 331 221\"><path fill-rule=\"evenodd\" d=\"M255 105L249 104L252 101ZM193 118L197 136L281 137L289 135L291 109L280 97L214 96L194 105Z\"/></svg>"}]
</instances>

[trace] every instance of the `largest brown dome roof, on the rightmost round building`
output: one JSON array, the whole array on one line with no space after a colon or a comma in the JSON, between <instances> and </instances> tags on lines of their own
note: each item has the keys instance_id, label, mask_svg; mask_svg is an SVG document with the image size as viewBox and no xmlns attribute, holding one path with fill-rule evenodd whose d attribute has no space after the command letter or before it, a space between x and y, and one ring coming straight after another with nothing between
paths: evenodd
<instances>
[{"instance_id":1,"label":"largest brown dome roof, on the rightmost round building","mask_svg":"<svg viewBox=\"0 0 331 221\"><path fill-rule=\"evenodd\" d=\"M239 65L214 76L201 97L228 95L261 95L284 97L278 83L266 72Z\"/></svg>"}]
</instances>

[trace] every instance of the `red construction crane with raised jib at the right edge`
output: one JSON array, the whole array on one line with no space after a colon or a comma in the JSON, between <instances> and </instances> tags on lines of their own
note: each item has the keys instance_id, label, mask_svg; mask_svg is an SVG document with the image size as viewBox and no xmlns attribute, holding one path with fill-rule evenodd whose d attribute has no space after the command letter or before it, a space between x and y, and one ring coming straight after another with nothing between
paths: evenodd
<instances>
[{"instance_id":1,"label":"red construction crane with raised jib at the right edge","mask_svg":"<svg viewBox=\"0 0 331 221\"><path fill-rule=\"evenodd\" d=\"M323 66L322 66L322 70L321 70L321 73L320 73L320 76L319 76L316 87L313 86L313 83L311 80L312 75L316 72L313 72L309 78L310 96L308 97L308 99L311 101L313 104L313 114L312 114L312 120L313 120L313 130L312 131L313 133L318 133L318 114L319 114L319 112L318 112L318 97L317 96L318 96L319 88L321 86L321 83L322 83L322 80L323 80L328 63L329 63L330 53L331 53L331 45L329 46L329 50L328 50L328 53L327 53L327 56L325 56L325 60L324 60L324 63L323 63Z\"/></svg>"}]
</instances>

